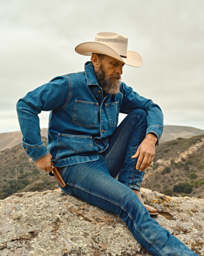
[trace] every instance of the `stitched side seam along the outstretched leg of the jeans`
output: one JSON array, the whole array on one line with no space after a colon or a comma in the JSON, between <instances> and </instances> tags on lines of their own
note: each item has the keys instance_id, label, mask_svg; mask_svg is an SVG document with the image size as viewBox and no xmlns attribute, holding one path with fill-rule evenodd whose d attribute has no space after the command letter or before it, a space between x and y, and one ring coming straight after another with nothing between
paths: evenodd
<instances>
[{"instance_id":1,"label":"stitched side seam along the outstretched leg of the jeans","mask_svg":"<svg viewBox=\"0 0 204 256\"><path fill-rule=\"evenodd\" d=\"M108 199L108 198L106 198L106 197L103 197L103 196L98 195L98 194L96 194L96 193L90 192L89 190L87 190L87 189L85 189L85 188L83 188L83 187L81 187L81 186L74 185L73 183L66 183L66 184L67 184L67 185L70 185L70 186L73 186L73 187L77 187L77 188L79 188L79 189L81 189L81 190L83 190L83 191L85 191L85 192L87 192L87 193L89 193L89 194L91 194L91 195L95 195L95 196L97 196L97 197L99 197L99 198L102 198L102 199L104 199L104 200L107 200L108 202L114 203L115 205L121 207L125 212L127 212L129 218L130 218L130 219L132 220L132 222L134 223L134 226L135 226L135 229L137 230L137 232L140 233L140 235L141 235L152 247L154 247L154 249L156 249L156 251L157 251L158 253L160 253L162 256L167 256L166 254L163 254L163 253L161 252L161 250L160 250L159 248L157 248L156 245L153 245L150 241L148 241L148 239L146 238L145 234L143 234L142 232L140 232L140 230L137 228L137 225L136 225L135 221L133 220L132 215L131 215L131 214L127 211L127 209L125 209L122 205L120 205L119 203L116 203L116 202L114 202L113 200L110 200L110 199Z\"/></svg>"}]
</instances>

